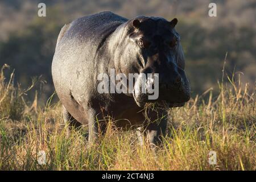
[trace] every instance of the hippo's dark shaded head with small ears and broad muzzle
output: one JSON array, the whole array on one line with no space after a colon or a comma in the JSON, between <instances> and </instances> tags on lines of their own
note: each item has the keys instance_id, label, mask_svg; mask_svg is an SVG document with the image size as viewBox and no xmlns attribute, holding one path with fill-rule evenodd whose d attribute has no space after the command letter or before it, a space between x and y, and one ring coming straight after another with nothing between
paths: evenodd
<instances>
[{"instance_id":1,"label":"hippo's dark shaded head with small ears and broad muzzle","mask_svg":"<svg viewBox=\"0 0 256 182\"><path fill-rule=\"evenodd\" d=\"M170 107L177 107L183 106L190 98L180 35L174 29L176 24L176 18L168 22L163 18L146 16L126 23L126 38L122 40L118 67L122 73L138 73L133 87L133 97L138 106L146 102L166 101ZM149 93L141 92L147 86L142 75L148 73L158 73L159 84L153 85L154 89L159 89L156 100L149 100ZM154 80L151 82L154 84Z\"/></svg>"}]
</instances>

